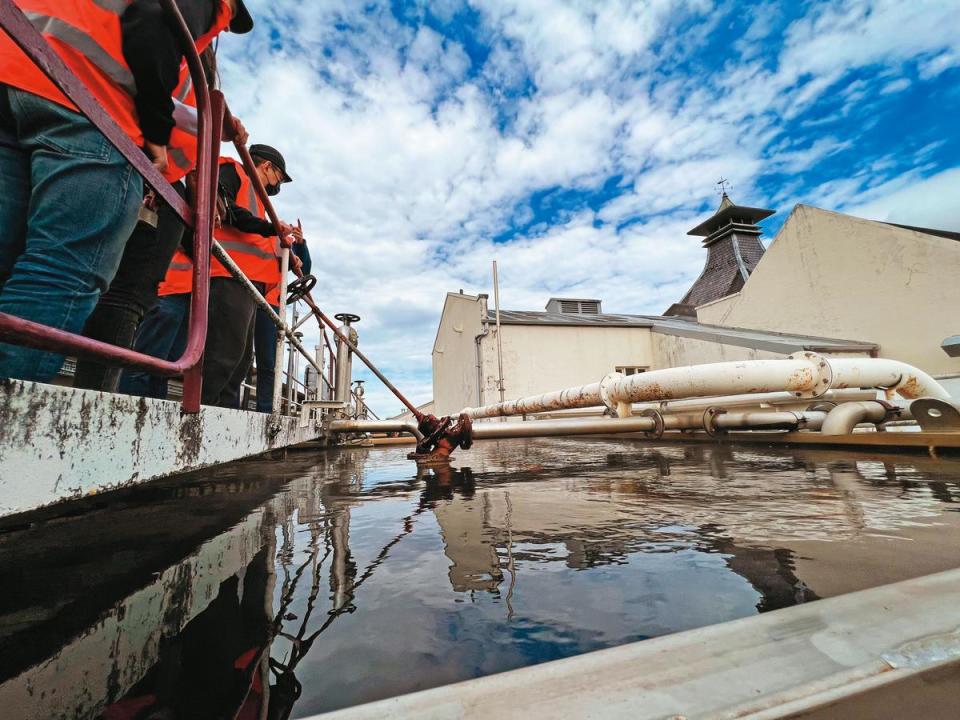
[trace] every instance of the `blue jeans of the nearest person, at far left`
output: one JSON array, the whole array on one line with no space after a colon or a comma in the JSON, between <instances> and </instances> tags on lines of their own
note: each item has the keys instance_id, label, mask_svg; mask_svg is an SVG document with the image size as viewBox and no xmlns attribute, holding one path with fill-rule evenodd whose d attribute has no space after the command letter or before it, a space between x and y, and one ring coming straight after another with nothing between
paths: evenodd
<instances>
[{"instance_id":1,"label":"blue jeans of the nearest person, at far left","mask_svg":"<svg viewBox=\"0 0 960 720\"><path fill-rule=\"evenodd\" d=\"M137 222L143 180L82 115L0 85L0 312L80 333ZM0 377L63 356L0 344Z\"/></svg>"}]
</instances>

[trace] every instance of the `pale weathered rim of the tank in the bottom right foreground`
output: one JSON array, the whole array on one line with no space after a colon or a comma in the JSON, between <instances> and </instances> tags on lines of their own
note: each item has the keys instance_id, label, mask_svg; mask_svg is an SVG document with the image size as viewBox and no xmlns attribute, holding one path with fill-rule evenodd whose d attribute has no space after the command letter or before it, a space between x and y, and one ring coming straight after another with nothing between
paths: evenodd
<instances>
[{"instance_id":1,"label":"pale weathered rim of the tank in the bottom right foreground","mask_svg":"<svg viewBox=\"0 0 960 720\"><path fill-rule=\"evenodd\" d=\"M931 668L960 678L958 594L951 570L314 717L642 720L835 707Z\"/></svg>"}]
</instances>

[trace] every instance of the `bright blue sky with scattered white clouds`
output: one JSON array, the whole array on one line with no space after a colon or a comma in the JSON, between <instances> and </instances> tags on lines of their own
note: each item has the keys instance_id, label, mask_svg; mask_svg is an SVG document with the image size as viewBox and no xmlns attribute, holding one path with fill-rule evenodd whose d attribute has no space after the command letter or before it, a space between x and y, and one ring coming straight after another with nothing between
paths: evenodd
<instances>
[{"instance_id":1,"label":"bright blue sky with scattered white clouds","mask_svg":"<svg viewBox=\"0 0 960 720\"><path fill-rule=\"evenodd\" d=\"M721 176L767 242L800 202L960 229L958 0L246 2L228 99L288 158L321 306L416 402L494 259L505 308L661 313Z\"/></svg>"}]
</instances>

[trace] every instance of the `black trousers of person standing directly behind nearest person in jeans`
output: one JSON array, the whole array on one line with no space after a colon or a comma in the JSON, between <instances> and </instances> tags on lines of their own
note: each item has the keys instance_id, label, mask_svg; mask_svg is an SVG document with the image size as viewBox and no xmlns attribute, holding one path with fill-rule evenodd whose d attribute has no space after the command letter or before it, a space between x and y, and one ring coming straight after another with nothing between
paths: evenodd
<instances>
[{"instance_id":1,"label":"black trousers of person standing directly behind nearest person in jeans","mask_svg":"<svg viewBox=\"0 0 960 720\"><path fill-rule=\"evenodd\" d=\"M182 182L174 183L173 188L181 197L186 195ZM88 338L133 347L137 327L157 301L157 286L183 237L184 225L166 203L161 203L157 215L157 227L137 223L127 240L117 274L84 326L83 334ZM77 363L73 386L116 392L119 380L119 368L81 360Z\"/></svg>"}]
</instances>

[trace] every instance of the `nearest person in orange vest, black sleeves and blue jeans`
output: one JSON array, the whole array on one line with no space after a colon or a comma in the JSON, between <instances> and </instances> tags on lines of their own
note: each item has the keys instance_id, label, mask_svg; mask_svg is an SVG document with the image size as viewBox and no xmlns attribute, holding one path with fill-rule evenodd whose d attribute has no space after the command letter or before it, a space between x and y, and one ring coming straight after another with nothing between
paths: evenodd
<instances>
[{"instance_id":1,"label":"nearest person in orange vest, black sleeves and blue jeans","mask_svg":"<svg viewBox=\"0 0 960 720\"><path fill-rule=\"evenodd\" d=\"M226 0L250 23L242 0ZM152 0L14 0L116 123L166 168L182 52ZM195 38L222 0L179 0ZM79 332L136 224L143 181L0 33L0 312ZM0 345L0 376L42 382L58 353Z\"/></svg>"}]
</instances>

